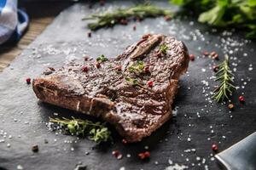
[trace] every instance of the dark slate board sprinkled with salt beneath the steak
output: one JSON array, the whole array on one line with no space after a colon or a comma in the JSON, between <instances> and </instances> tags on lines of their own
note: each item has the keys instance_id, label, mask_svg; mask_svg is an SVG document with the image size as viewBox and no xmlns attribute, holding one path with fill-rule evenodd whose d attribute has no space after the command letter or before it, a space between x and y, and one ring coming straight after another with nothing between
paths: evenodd
<instances>
[{"instance_id":1,"label":"dark slate board sprinkled with salt beneath the steak","mask_svg":"<svg viewBox=\"0 0 256 170\"><path fill-rule=\"evenodd\" d=\"M88 169L165 169L170 166L169 159L173 164L182 164L189 169L218 169L216 161L211 160L212 143L224 150L256 130L255 71L249 69L256 65L255 42L247 42L236 33L207 31L190 19L166 22L163 18L134 23L137 31L132 31L134 24L129 24L93 32L88 38L86 22L81 21L81 17L95 10L113 8L113 4L126 6L132 3L119 1L107 3L105 7L96 5L94 9L77 3L67 8L0 74L0 169L17 169L20 165L23 169L70 170L78 163ZM157 4L169 7L167 3ZM114 143L103 144L94 150L95 144L88 139L55 134L46 127L45 122L49 116L55 116L55 112L59 116L85 116L38 102L32 86L26 85L26 77L38 77L48 66L57 67L68 60L82 59L86 54L113 57L148 32L173 35L185 42L190 54L198 56L190 63L187 75L181 78L175 102L177 116L141 143L121 144L119 135L113 130ZM228 42L224 43L225 40ZM203 58L202 50L217 51L221 60L229 51L231 66L236 70L236 85L240 87L233 97L235 111L230 113L226 105L206 100L214 86L211 65L219 61ZM201 82L204 80L209 86ZM203 88L205 93L202 93ZM245 105L237 99L242 93ZM49 143L45 144L44 139ZM38 144L38 153L32 153L32 144ZM151 157L148 161L140 161L137 153L145 150L145 146L148 146ZM188 149L196 151L184 152ZM116 160L111 155L112 150L119 150L123 159ZM85 155L85 152L90 154ZM131 157L127 158L127 154ZM197 156L200 161L196 160Z\"/></svg>"}]
</instances>

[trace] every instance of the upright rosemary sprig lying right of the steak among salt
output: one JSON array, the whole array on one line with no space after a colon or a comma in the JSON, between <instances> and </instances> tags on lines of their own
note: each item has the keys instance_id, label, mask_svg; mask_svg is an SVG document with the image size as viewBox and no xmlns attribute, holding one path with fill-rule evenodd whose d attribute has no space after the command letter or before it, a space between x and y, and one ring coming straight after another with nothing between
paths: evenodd
<instances>
[{"instance_id":1,"label":"upright rosemary sprig lying right of the steak among salt","mask_svg":"<svg viewBox=\"0 0 256 170\"><path fill-rule=\"evenodd\" d=\"M225 99L229 100L232 92L236 87L233 85L234 75L230 70L229 66L229 56L225 54L224 61L218 65L218 72L216 73L217 79L215 81L219 82L218 88L214 90L212 96L218 102L222 102Z\"/></svg>"}]
</instances>

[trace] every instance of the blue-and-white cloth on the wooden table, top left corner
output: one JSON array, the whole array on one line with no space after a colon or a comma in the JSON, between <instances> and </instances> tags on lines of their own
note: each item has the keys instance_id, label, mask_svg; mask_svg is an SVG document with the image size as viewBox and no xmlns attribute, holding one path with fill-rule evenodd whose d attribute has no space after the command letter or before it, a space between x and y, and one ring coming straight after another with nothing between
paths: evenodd
<instances>
[{"instance_id":1,"label":"blue-and-white cloth on the wooden table, top left corner","mask_svg":"<svg viewBox=\"0 0 256 170\"><path fill-rule=\"evenodd\" d=\"M28 22L27 14L17 8L17 0L0 0L0 44L18 41Z\"/></svg>"}]
</instances>

